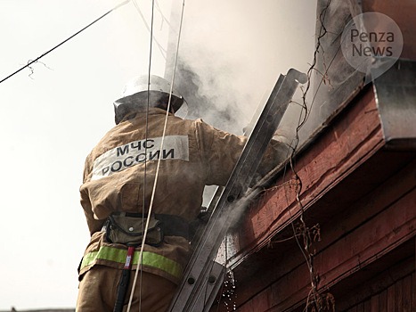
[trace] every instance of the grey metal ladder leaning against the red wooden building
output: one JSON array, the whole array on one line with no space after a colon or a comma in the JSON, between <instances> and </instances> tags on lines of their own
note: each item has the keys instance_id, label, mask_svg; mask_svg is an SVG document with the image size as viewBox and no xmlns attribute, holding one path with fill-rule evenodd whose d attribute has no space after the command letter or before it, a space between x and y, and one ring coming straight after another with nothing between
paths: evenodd
<instances>
[{"instance_id":1,"label":"grey metal ladder leaning against the red wooden building","mask_svg":"<svg viewBox=\"0 0 416 312\"><path fill-rule=\"evenodd\" d=\"M168 311L207 312L211 308L225 272L225 267L215 261L216 253L228 229L246 208L245 202L257 196L256 190L247 193L249 183L298 84L306 81L306 74L294 69L290 69L286 75L280 75L251 130L231 177L224 188L217 190L214 196L216 202L209 205L212 209L209 211L210 218L199 235L192 258L184 272L183 282Z\"/></svg>"}]
</instances>

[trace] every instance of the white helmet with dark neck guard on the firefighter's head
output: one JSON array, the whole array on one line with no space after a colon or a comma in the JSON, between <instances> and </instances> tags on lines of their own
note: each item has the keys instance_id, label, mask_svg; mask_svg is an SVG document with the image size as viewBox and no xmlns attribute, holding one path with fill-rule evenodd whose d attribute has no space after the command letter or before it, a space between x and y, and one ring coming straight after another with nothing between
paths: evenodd
<instances>
[{"instance_id":1,"label":"white helmet with dark neck guard on the firefighter's head","mask_svg":"<svg viewBox=\"0 0 416 312\"><path fill-rule=\"evenodd\" d=\"M171 91L170 107L175 112L181 108L184 98L175 90L171 90L170 83L167 80L155 75L150 77L144 75L131 79L124 88L123 96L114 102L116 124L128 113L146 107L148 104L151 107L167 109Z\"/></svg>"}]
</instances>

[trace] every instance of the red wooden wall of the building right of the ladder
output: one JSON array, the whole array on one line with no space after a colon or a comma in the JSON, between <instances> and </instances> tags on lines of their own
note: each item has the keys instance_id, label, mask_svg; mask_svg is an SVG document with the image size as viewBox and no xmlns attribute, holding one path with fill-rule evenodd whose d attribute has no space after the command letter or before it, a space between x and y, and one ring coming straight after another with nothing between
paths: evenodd
<instances>
[{"instance_id":1,"label":"red wooden wall of the building right of the ladder","mask_svg":"<svg viewBox=\"0 0 416 312\"><path fill-rule=\"evenodd\" d=\"M303 218L320 229L311 247L317 290L335 311L385 303L394 307L387 311L416 310L416 152L383 144L367 87L297 159ZM302 238L300 246L293 239L300 218L294 181L288 169L235 229L237 311L304 311L311 300Z\"/></svg>"}]
</instances>

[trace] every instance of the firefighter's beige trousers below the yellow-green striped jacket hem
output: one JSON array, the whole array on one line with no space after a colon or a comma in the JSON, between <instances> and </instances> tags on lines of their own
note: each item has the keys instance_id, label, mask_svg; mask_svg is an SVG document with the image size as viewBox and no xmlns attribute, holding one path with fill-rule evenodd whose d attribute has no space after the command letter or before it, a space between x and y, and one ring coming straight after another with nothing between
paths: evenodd
<instances>
[{"instance_id":1,"label":"firefighter's beige trousers below the yellow-green striped jacket hem","mask_svg":"<svg viewBox=\"0 0 416 312\"><path fill-rule=\"evenodd\" d=\"M77 312L112 312L117 298L118 283L122 270L95 266L79 283ZM126 311L135 271L131 271L123 312ZM131 311L164 312L176 291L175 283L147 272L139 272L135 284Z\"/></svg>"}]
</instances>

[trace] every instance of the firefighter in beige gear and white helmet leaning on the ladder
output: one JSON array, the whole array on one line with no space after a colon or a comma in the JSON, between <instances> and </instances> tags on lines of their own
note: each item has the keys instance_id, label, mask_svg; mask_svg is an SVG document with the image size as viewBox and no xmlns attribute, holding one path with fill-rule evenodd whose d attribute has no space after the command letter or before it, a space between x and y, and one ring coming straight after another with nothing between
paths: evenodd
<instances>
[{"instance_id":1,"label":"firefighter in beige gear and white helmet leaning on the ladder","mask_svg":"<svg viewBox=\"0 0 416 312\"><path fill-rule=\"evenodd\" d=\"M132 256L133 276L142 244L132 311L139 306L145 312L166 311L175 295L192 253L189 224L200 213L204 187L226 184L247 140L201 119L176 117L183 103L165 79L135 78L114 103L116 126L87 156L80 195L91 241L79 267L77 312L113 310L126 282L127 256ZM287 151L277 141L270 146L263 173ZM130 278L121 299L124 310L132 284Z\"/></svg>"}]
</instances>

